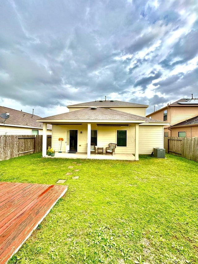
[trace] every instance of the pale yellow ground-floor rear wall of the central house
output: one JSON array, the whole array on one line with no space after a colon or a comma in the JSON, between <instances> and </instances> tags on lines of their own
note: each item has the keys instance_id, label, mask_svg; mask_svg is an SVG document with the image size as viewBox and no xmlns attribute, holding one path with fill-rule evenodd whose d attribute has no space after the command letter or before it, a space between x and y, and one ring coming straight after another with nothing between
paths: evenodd
<instances>
[{"instance_id":1,"label":"pale yellow ground-floor rear wall of the central house","mask_svg":"<svg viewBox=\"0 0 198 264\"><path fill-rule=\"evenodd\" d=\"M58 141L62 137L61 151L65 152L66 130L78 130L78 152L87 152L87 124L82 125L53 125L52 148L55 151L60 150L61 142ZM135 126L130 127L97 127L91 124L91 129L97 130L97 146L105 147L109 143L117 144L117 130L127 130L127 147L116 147L115 153L135 154ZM80 134L80 131L82 134ZM139 126L139 153L151 154L153 147L163 148L163 126L140 125Z\"/></svg>"}]
</instances>

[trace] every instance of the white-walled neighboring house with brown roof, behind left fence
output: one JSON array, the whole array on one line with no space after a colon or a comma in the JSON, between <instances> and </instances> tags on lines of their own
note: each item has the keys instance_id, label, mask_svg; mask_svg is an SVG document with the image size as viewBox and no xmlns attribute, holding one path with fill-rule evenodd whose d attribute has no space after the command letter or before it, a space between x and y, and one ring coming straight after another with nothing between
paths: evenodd
<instances>
[{"instance_id":1,"label":"white-walled neighboring house with brown roof, behind left fence","mask_svg":"<svg viewBox=\"0 0 198 264\"><path fill-rule=\"evenodd\" d=\"M36 120L41 118L38 115L28 114L22 111L14 110L0 106L0 115L8 114L8 119L0 117L0 135L42 135L43 123ZM52 126L47 126L47 134L51 135Z\"/></svg>"}]
</instances>

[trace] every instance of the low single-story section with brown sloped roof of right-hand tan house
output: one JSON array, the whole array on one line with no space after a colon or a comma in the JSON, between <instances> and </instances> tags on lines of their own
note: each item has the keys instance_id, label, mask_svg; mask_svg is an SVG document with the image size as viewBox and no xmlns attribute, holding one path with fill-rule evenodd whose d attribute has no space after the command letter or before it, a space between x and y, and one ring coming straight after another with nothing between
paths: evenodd
<instances>
[{"instance_id":1,"label":"low single-story section with brown sloped roof of right-hand tan house","mask_svg":"<svg viewBox=\"0 0 198 264\"><path fill-rule=\"evenodd\" d=\"M198 137L198 116L169 127L171 136Z\"/></svg>"}]
</instances>

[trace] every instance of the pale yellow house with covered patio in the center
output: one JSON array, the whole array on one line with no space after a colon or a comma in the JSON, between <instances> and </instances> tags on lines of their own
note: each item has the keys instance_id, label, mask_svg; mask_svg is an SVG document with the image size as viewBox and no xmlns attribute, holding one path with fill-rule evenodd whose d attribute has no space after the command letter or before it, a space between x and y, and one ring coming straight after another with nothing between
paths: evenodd
<instances>
[{"instance_id":1,"label":"pale yellow house with covered patio in the center","mask_svg":"<svg viewBox=\"0 0 198 264\"><path fill-rule=\"evenodd\" d=\"M46 125L52 125L52 148L58 152L63 138L62 152L87 153L90 144L97 147L116 143L116 153L151 154L153 147L163 148L163 127L167 122L145 117L147 105L120 101L95 101L67 106L69 112L38 119L43 122L43 138ZM65 144L64 144L65 143ZM43 140L43 157L46 143Z\"/></svg>"}]
</instances>

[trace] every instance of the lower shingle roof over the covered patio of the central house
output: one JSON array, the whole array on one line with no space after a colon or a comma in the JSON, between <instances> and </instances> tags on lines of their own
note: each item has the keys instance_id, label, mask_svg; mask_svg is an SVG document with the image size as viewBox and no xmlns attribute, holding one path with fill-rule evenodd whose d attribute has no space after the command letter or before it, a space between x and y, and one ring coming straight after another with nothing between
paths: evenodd
<instances>
[{"instance_id":1,"label":"lower shingle roof over the covered patio of the central house","mask_svg":"<svg viewBox=\"0 0 198 264\"><path fill-rule=\"evenodd\" d=\"M133 114L125 113L123 111L104 109L101 107L96 107L96 109L92 109L92 107L89 107L81 110L67 112L60 115L48 116L45 118L38 119L37 121L47 123L48 120L50 120L49 123L54 123L58 120L59 121L64 120L64 122L69 122L69 120L78 120L79 122L81 122L82 120L87 120L87 121L96 120L98 122L100 120L106 120L106 121L111 120L114 122L140 121L140 123L164 123L163 121L146 118L139 115L133 115Z\"/></svg>"}]
</instances>

